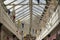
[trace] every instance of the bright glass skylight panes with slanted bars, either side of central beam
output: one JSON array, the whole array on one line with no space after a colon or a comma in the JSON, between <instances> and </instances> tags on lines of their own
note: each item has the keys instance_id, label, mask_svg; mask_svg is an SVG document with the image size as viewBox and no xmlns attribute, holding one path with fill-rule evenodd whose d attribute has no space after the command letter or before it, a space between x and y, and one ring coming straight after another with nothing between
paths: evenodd
<instances>
[{"instance_id":1,"label":"bright glass skylight panes with slanted bars, either side of central beam","mask_svg":"<svg viewBox=\"0 0 60 40\"><path fill-rule=\"evenodd\" d=\"M44 8L46 5L45 0L40 0L40 4L37 3L37 0L32 0L33 2L33 15L34 16L41 16L44 12ZM10 11L13 11L13 5L15 6L15 14L16 14L16 20L25 20L25 18L30 18L30 9L29 9L29 0L6 0L4 1L4 4L6 5L7 9L10 9Z\"/></svg>"}]
</instances>

